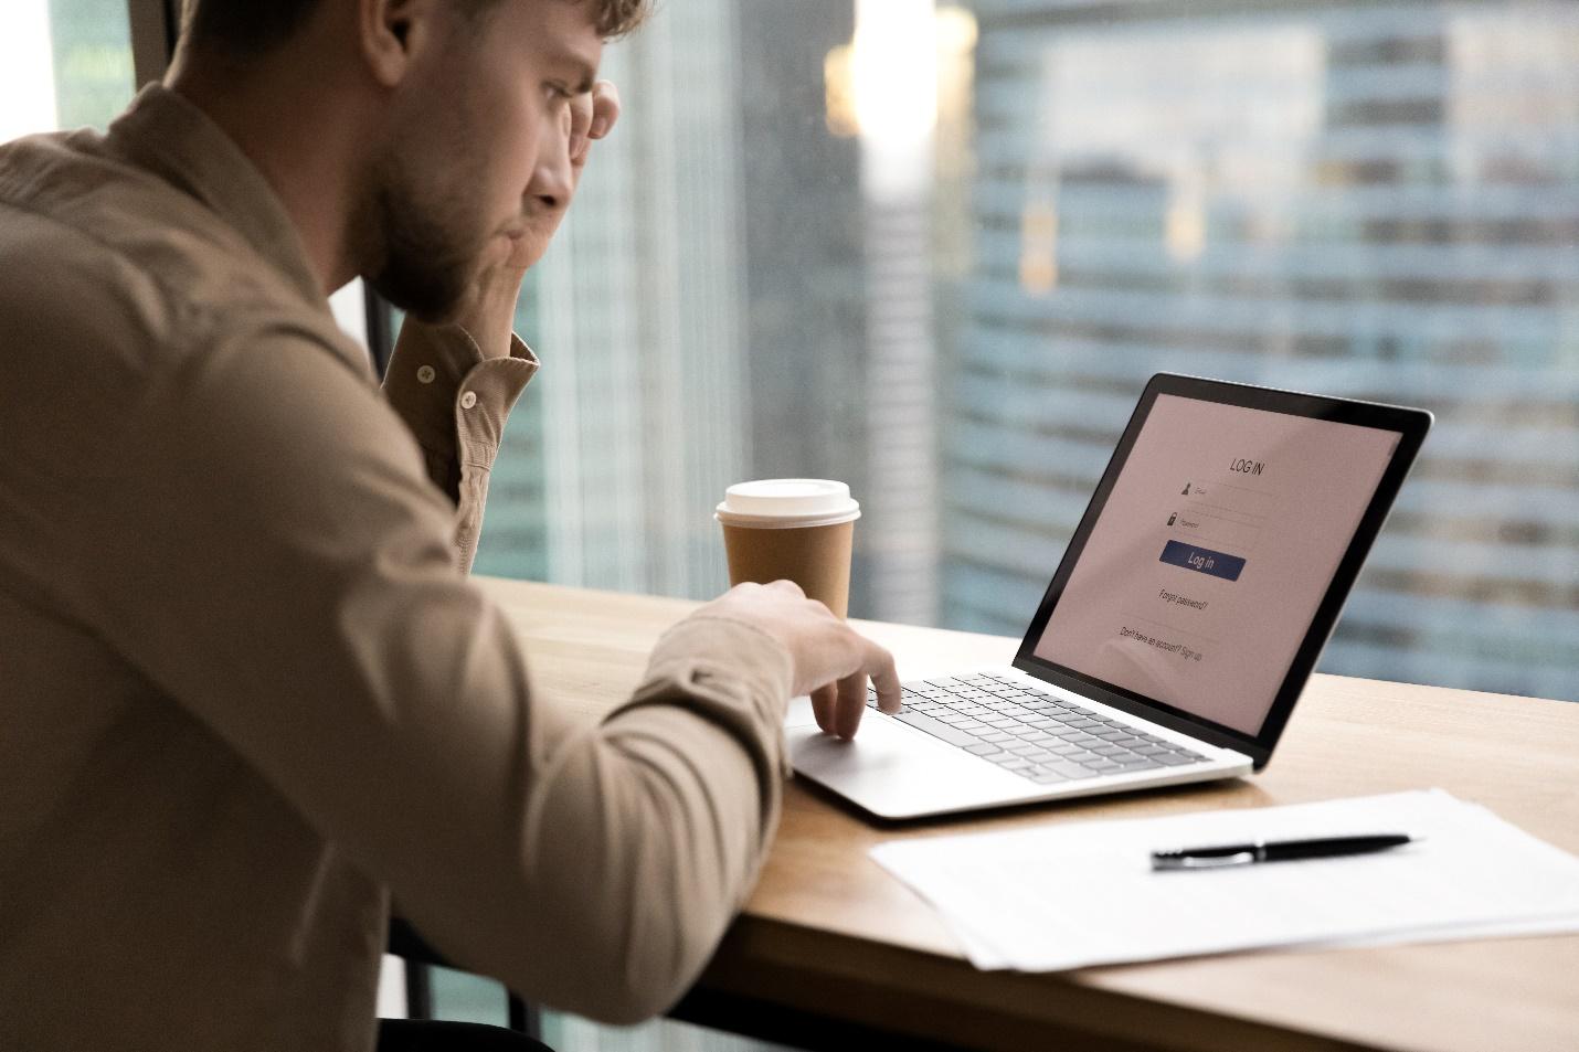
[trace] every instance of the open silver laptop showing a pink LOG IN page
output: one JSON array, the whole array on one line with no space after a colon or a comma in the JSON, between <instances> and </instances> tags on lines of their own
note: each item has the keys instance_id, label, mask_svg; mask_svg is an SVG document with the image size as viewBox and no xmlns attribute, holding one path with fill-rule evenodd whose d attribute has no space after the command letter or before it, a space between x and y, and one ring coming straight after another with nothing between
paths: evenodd
<instances>
[{"instance_id":1,"label":"open silver laptop showing a pink LOG IN page","mask_svg":"<svg viewBox=\"0 0 1579 1052\"><path fill-rule=\"evenodd\" d=\"M1014 663L908 681L898 716L873 695L853 741L799 698L794 769L880 818L1258 771L1431 423L1151 378Z\"/></svg>"}]
</instances>

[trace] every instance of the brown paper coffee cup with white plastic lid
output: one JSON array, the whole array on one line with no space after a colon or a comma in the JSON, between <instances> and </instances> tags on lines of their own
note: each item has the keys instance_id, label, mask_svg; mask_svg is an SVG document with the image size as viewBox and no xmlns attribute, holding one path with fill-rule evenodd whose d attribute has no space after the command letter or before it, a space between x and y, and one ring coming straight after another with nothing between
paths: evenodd
<instances>
[{"instance_id":1,"label":"brown paper coffee cup with white plastic lid","mask_svg":"<svg viewBox=\"0 0 1579 1052\"><path fill-rule=\"evenodd\" d=\"M861 504L827 479L758 479L725 491L729 584L790 580L837 616L850 611L850 551Z\"/></svg>"}]
</instances>

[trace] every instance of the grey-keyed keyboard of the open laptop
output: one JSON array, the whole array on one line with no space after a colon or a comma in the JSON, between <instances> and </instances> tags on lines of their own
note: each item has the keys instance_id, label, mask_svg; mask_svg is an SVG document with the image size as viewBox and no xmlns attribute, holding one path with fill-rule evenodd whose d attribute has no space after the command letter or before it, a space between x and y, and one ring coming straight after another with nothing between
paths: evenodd
<instances>
[{"instance_id":1,"label":"grey-keyed keyboard of the open laptop","mask_svg":"<svg viewBox=\"0 0 1579 1052\"><path fill-rule=\"evenodd\" d=\"M1205 760L1023 681L981 673L902 684L895 717L1037 785ZM872 690L867 704L876 708Z\"/></svg>"}]
</instances>

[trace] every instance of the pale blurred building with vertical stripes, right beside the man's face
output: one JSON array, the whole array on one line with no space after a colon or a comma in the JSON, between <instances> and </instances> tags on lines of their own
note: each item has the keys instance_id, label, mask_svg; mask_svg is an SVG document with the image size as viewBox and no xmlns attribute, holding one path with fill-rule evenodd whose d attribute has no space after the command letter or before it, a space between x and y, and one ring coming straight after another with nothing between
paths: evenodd
<instances>
[{"instance_id":1,"label":"pale blurred building with vertical stripes, right beside the man's face","mask_svg":"<svg viewBox=\"0 0 1579 1052\"><path fill-rule=\"evenodd\" d=\"M595 145L524 300L543 371L512 420L478 569L720 591L709 512L745 469L734 9L676 5L608 49L639 117Z\"/></svg>"}]
</instances>

